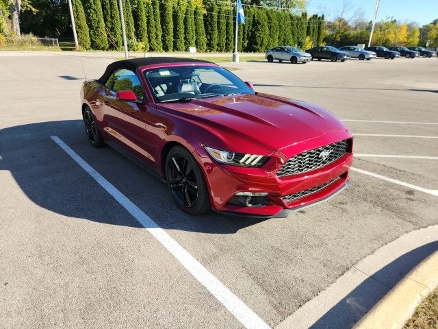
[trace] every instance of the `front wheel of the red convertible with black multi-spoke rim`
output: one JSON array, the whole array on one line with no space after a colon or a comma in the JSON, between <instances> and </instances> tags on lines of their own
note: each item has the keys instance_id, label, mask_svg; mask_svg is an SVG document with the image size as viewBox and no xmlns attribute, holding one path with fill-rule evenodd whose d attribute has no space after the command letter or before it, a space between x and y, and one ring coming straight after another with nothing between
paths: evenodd
<instances>
[{"instance_id":1,"label":"front wheel of the red convertible with black multi-spoke rim","mask_svg":"<svg viewBox=\"0 0 438 329\"><path fill-rule=\"evenodd\" d=\"M166 185L177 206L190 215L210 209L209 191L195 158L181 146L170 149L165 164Z\"/></svg>"}]
</instances>

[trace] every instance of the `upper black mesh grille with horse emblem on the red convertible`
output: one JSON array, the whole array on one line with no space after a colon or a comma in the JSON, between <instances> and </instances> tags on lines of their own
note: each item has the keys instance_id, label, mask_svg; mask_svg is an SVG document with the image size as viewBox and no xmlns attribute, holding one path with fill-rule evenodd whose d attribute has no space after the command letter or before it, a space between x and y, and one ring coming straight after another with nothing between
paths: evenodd
<instances>
[{"instance_id":1,"label":"upper black mesh grille with horse emblem on the red convertible","mask_svg":"<svg viewBox=\"0 0 438 329\"><path fill-rule=\"evenodd\" d=\"M347 149L348 139L345 139L344 141L298 154L298 156L294 156L287 160L276 175L279 177L288 176L324 167L346 154Z\"/></svg>"}]
</instances>

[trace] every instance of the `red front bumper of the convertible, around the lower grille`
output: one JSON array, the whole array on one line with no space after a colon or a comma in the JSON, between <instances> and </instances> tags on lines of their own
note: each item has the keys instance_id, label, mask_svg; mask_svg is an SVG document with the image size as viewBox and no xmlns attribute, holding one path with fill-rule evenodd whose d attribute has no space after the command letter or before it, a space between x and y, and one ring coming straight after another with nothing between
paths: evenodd
<instances>
[{"instance_id":1,"label":"red front bumper of the convertible, around the lower grille","mask_svg":"<svg viewBox=\"0 0 438 329\"><path fill-rule=\"evenodd\" d=\"M348 133L349 135L349 133ZM344 132L341 138L350 138ZM339 140L338 134L332 136L334 143ZM337 138L337 140L335 139ZM303 145L303 151L309 144ZM294 149L298 147L294 145ZM307 148L310 149L310 148ZM210 191L211 208L219 212L233 212L235 215L249 217L285 217L290 212L296 212L315 204L320 204L349 186L348 169L352 164L352 153L347 152L341 158L319 169L277 177L276 171L281 167L281 161L276 161L275 156L283 154L283 160L291 157L287 149L282 149L272 154L272 158L259 168L235 167L218 164L203 151L203 147L195 152L195 156L201 162L207 185ZM296 152L299 154L301 151ZM285 155L287 154L287 155ZM277 158L277 160L279 160ZM302 197L291 199L289 202L283 199L290 195L296 195L302 191L309 191L318 186L325 185L315 192ZM229 203L238 192L268 193L268 204L258 206L237 206ZM287 198L286 198L287 200Z\"/></svg>"}]
</instances>

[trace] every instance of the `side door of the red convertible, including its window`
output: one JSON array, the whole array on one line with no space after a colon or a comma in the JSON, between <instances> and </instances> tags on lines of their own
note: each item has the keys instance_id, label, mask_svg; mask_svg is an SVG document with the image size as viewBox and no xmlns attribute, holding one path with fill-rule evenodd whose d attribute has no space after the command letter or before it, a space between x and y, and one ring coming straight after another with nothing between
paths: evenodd
<instances>
[{"instance_id":1,"label":"side door of the red convertible, including its window","mask_svg":"<svg viewBox=\"0 0 438 329\"><path fill-rule=\"evenodd\" d=\"M120 69L110 76L105 86L108 88L104 99L107 117L105 132L118 145L127 147L136 156L146 162L155 162L148 143L153 136L148 136L149 132L146 130L149 108L155 107L146 98L140 79L135 72ZM116 93L120 90L133 91L138 100L116 99Z\"/></svg>"}]
</instances>

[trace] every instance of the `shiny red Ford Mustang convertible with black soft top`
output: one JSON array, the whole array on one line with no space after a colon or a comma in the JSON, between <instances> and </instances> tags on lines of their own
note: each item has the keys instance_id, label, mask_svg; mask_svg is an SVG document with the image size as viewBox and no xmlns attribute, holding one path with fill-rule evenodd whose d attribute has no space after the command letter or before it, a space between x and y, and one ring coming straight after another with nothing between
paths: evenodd
<instances>
[{"instance_id":1,"label":"shiny red Ford Mustang convertible with black soft top","mask_svg":"<svg viewBox=\"0 0 438 329\"><path fill-rule=\"evenodd\" d=\"M92 145L152 169L191 215L285 217L350 185L352 134L331 112L257 93L211 62L121 60L81 99Z\"/></svg>"}]
</instances>

